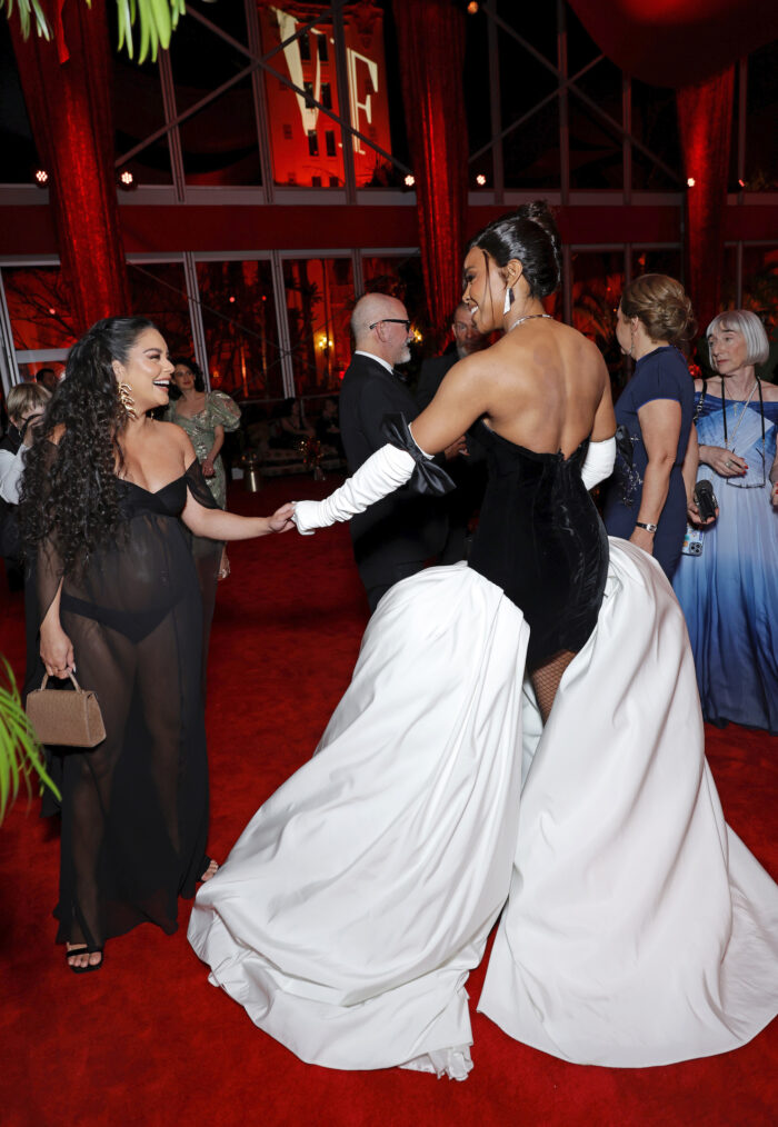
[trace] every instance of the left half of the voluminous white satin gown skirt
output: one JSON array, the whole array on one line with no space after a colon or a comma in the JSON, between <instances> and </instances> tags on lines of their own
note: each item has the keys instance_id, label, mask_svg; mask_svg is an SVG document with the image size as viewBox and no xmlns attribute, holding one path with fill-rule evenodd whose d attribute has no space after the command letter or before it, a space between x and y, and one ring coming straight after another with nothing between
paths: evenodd
<instances>
[{"instance_id":1,"label":"left half of the voluminous white satin gown skirt","mask_svg":"<svg viewBox=\"0 0 778 1127\"><path fill-rule=\"evenodd\" d=\"M303 1061L467 1075L465 982L515 851L528 637L465 565L392 587L317 754L200 889L211 982Z\"/></svg>"}]
</instances>

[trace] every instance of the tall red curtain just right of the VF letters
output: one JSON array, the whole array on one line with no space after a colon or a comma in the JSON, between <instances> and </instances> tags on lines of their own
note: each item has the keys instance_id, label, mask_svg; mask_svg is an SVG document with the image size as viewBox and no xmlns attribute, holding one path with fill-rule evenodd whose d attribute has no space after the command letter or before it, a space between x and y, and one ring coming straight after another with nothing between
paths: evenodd
<instances>
[{"instance_id":1,"label":"tall red curtain just right of the VF letters","mask_svg":"<svg viewBox=\"0 0 778 1127\"><path fill-rule=\"evenodd\" d=\"M427 309L442 338L462 290L468 181L465 12L450 0L394 0L394 10Z\"/></svg>"}]
</instances>

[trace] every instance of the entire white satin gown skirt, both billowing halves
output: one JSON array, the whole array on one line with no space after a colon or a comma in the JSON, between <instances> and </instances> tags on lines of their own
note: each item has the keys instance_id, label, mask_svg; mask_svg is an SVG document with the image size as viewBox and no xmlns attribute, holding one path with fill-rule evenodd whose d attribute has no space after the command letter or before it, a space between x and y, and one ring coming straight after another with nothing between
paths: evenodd
<instances>
[{"instance_id":1,"label":"entire white satin gown skirt, both billowing halves","mask_svg":"<svg viewBox=\"0 0 778 1127\"><path fill-rule=\"evenodd\" d=\"M463 1079L465 983L509 893L480 1009L522 1041L663 1064L778 1010L778 888L722 817L658 566L611 541L545 730L525 644L463 565L394 587L318 754L197 894L211 982L303 1061Z\"/></svg>"}]
</instances>

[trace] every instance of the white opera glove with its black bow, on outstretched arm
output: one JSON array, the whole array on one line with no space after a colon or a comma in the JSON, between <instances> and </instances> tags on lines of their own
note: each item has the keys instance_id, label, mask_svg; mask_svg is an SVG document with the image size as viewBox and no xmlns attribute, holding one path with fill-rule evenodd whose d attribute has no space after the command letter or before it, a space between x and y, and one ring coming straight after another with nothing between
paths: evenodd
<instances>
[{"instance_id":1,"label":"white opera glove with its black bow, on outstretched arm","mask_svg":"<svg viewBox=\"0 0 778 1127\"><path fill-rule=\"evenodd\" d=\"M387 416L383 432L392 442L371 454L339 489L324 500L294 503L292 520L301 535L309 536L315 529L364 513L412 478L412 487L419 494L442 496L453 489L451 478L417 446L401 415Z\"/></svg>"}]
</instances>

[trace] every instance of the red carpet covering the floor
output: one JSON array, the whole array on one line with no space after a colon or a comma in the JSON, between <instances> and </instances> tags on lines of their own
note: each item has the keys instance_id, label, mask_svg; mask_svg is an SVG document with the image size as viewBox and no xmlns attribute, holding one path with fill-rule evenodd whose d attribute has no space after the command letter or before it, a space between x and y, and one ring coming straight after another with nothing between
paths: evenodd
<instances>
[{"instance_id":1,"label":"red carpet covering the floor","mask_svg":"<svg viewBox=\"0 0 778 1127\"><path fill-rule=\"evenodd\" d=\"M232 508L269 512L331 487L232 487ZM256 807L316 746L348 682L366 618L338 527L235 544L220 585L209 683L211 851L223 858ZM23 667L21 605L0 578L0 651ZM708 729L727 819L778 876L777 742ZM76 976L53 944L56 826L20 802L0 828L3 1127L187 1124L762 1127L776 1122L778 1023L726 1056L643 1071L564 1064L474 1014L475 1070L463 1084L388 1071L301 1064L207 984L186 942L189 905L166 938L151 925L108 944L98 974ZM640 875L636 873L639 880ZM481 975L470 980L478 997Z\"/></svg>"}]
</instances>

